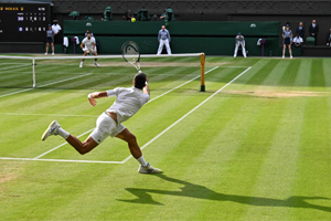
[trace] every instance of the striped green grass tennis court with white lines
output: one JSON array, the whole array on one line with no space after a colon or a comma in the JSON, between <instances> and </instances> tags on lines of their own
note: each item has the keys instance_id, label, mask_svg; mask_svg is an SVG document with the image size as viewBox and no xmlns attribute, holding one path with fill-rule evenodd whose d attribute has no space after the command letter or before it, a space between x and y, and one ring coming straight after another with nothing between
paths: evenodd
<instances>
[{"instance_id":1,"label":"striped green grass tennis court with white lines","mask_svg":"<svg viewBox=\"0 0 331 221\"><path fill-rule=\"evenodd\" d=\"M126 143L81 156L49 124L85 139L131 86L120 59L0 61L1 220L330 220L331 60L142 59L151 101L124 125L161 175L140 175ZM236 78L237 77L237 78Z\"/></svg>"}]
</instances>

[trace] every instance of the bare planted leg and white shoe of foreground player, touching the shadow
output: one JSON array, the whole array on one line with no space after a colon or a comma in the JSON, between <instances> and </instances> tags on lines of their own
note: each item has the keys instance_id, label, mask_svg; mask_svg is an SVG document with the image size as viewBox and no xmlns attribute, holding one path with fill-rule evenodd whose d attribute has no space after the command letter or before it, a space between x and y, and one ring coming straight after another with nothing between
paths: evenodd
<instances>
[{"instance_id":1,"label":"bare planted leg and white shoe of foreground player, touching the shadow","mask_svg":"<svg viewBox=\"0 0 331 221\"><path fill-rule=\"evenodd\" d=\"M120 127L122 125L119 125L118 127ZM124 126L122 126L124 127ZM141 149L138 146L137 143L137 138L134 134L131 134L127 128L125 128L124 130L121 130L119 134L116 135L117 138L120 138L122 140L125 140L128 144L128 147L130 149L131 155L139 161L140 167L138 169L138 171L140 173L157 173L157 172L161 172L160 169L158 168L153 168L152 166L150 166L149 162L147 162L142 156Z\"/></svg>"}]
</instances>

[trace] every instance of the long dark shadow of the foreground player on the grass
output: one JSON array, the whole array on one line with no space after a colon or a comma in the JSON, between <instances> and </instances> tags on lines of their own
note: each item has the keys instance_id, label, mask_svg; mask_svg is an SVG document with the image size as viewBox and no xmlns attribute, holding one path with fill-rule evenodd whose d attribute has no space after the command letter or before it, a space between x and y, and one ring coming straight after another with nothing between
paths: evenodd
<instances>
[{"instance_id":1,"label":"long dark shadow of the foreground player on the grass","mask_svg":"<svg viewBox=\"0 0 331 221\"><path fill-rule=\"evenodd\" d=\"M204 200L215 200L215 201L231 201L243 204L258 206L258 207L288 207L288 208L308 208L308 209L317 209L325 212L331 212L330 207L318 206L307 200L331 200L330 198L324 197L299 197L293 196L286 200L271 199L271 198L261 198L261 197L248 197L248 196L238 196L238 194L224 194L220 192L215 192L206 187L194 185L191 182L186 182L184 180L179 180L175 178L167 177L163 173L154 175L159 178L175 182L180 185L184 185L184 187L180 188L178 191L170 190L159 190L159 189L139 189L139 188L126 188L127 191L135 194L138 199L132 200L121 200L125 202L134 202L134 203L146 203L146 204L159 204L162 206L161 202L158 202L152 199L150 193L158 194L168 194L168 196L177 196L177 197L190 197L196 199Z\"/></svg>"}]
</instances>

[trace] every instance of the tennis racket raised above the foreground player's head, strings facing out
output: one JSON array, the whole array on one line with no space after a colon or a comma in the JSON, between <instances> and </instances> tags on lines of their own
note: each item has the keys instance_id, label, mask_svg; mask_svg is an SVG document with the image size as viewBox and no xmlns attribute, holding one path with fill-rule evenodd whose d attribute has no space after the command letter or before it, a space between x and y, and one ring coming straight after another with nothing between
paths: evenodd
<instances>
[{"instance_id":1,"label":"tennis racket raised above the foreground player's head, strings facing out","mask_svg":"<svg viewBox=\"0 0 331 221\"><path fill-rule=\"evenodd\" d=\"M121 45L121 55L124 60L134 65L140 73L140 50L136 42L128 41Z\"/></svg>"}]
</instances>

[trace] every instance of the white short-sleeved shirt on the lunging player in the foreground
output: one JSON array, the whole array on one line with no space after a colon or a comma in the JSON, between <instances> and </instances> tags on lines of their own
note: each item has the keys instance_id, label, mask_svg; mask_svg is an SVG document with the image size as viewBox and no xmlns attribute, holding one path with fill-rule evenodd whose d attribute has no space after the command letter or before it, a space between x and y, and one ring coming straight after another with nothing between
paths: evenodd
<instances>
[{"instance_id":1,"label":"white short-sleeved shirt on the lunging player in the foreground","mask_svg":"<svg viewBox=\"0 0 331 221\"><path fill-rule=\"evenodd\" d=\"M117 114L117 123L120 124L134 116L149 101L149 95L141 90L131 87L116 87L107 91L107 95L116 96L114 104L107 109Z\"/></svg>"}]
</instances>

